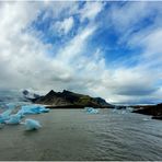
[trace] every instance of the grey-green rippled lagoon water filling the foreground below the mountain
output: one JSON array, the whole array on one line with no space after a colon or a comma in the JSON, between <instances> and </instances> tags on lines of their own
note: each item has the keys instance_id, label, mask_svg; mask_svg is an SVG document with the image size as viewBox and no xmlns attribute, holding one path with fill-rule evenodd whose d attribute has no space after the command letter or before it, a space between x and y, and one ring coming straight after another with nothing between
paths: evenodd
<instances>
[{"instance_id":1,"label":"grey-green rippled lagoon water filling the foreground below the mountain","mask_svg":"<svg viewBox=\"0 0 162 162\"><path fill-rule=\"evenodd\" d=\"M0 160L162 160L162 121L123 111L54 109L27 116L43 128L22 125L0 131Z\"/></svg>"}]
</instances>

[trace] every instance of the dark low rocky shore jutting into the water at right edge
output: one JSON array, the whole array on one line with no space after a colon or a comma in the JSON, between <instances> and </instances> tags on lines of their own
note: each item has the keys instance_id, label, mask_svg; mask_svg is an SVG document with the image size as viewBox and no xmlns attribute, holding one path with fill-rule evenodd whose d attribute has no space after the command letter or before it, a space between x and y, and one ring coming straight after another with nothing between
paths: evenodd
<instances>
[{"instance_id":1,"label":"dark low rocky shore jutting into the water at right edge","mask_svg":"<svg viewBox=\"0 0 162 162\"><path fill-rule=\"evenodd\" d=\"M134 111L134 113L152 115L154 119L162 119L162 103L158 105L142 106L139 109Z\"/></svg>"}]
</instances>

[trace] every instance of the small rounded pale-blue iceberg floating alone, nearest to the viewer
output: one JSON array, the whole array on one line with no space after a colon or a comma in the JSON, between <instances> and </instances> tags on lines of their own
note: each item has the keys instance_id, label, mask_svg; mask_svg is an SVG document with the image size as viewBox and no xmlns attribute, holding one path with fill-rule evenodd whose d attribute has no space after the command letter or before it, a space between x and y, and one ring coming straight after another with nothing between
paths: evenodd
<instances>
[{"instance_id":1,"label":"small rounded pale-blue iceberg floating alone, nearest to the viewer","mask_svg":"<svg viewBox=\"0 0 162 162\"><path fill-rule=\"evenodd\" d=\"M24 125L26 127L26 130L37 130L42 127L39 121L31 118L25 119Z\"/></svg>"}]
</instances>

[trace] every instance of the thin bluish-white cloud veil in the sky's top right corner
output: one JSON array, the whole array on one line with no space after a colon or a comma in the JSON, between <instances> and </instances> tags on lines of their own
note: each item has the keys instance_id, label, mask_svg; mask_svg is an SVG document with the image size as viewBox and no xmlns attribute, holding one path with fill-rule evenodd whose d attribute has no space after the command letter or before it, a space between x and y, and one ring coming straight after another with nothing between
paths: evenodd
<instances>
[{"instance_id":1,"label":"thin bluish-white cloud veil in the sky's top right corner","mask_svg":"<svg viewBox=\"0 0 162 162\"><path fill-rule=\"evenodd\" d=\"M113 5L108 10L107 18L116 31L125 34L132 32L131 30L137 27L144 18L152 16L153 12L160 10L159 7L160 4L157 2L130 1L124 5Z\"/></svg>"}]
</instances>

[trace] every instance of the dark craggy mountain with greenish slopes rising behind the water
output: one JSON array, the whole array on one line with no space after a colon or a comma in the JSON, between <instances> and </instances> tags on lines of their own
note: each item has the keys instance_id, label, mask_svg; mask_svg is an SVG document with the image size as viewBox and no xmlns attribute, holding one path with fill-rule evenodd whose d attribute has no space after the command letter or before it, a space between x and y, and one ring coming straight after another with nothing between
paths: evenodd
<instances>
[{"instance_id":1,"label":"dark craggy mountain with greenish slopes rising behind the water","mask_svg":"<svg viewBox=\"0 0 162 162\"><path fill-rule=\"evenodd\" d=\"M62 92L50 91L45 96L33 101L37 104L51 105L53 107L113 107L101 97L91 97L79 93L63 90Z\"/></svg>"}]
</instances>

